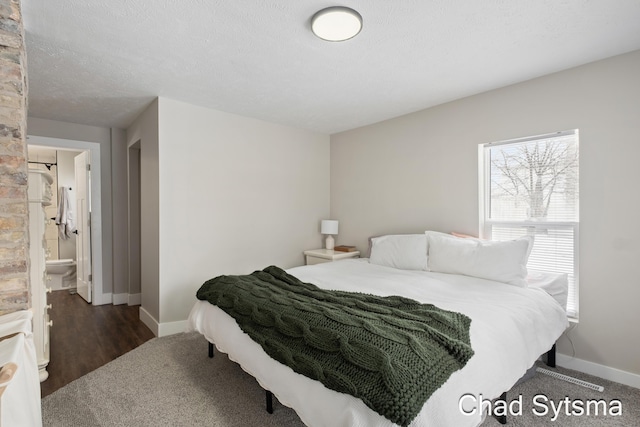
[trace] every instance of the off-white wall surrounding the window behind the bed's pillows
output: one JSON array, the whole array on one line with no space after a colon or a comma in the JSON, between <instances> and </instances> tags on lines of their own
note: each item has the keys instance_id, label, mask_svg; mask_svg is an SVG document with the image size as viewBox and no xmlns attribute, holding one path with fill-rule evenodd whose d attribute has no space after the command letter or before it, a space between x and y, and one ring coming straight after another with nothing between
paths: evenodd
<instances>
[{"instance_id":1,"label":"off-white wall surrounding the window behind the bed's pillows","mask_svg":"<svg viewBox=\"0 0 640 427\"><path fill-rule=\"evenodd\" d=\"M640 51L333 135L341 242L366 250L377 234L477 234L478 144L574 128L580 323L559 351L573 354L570 338L587 365L638 375Z\"/></svg>"}]
</instances>

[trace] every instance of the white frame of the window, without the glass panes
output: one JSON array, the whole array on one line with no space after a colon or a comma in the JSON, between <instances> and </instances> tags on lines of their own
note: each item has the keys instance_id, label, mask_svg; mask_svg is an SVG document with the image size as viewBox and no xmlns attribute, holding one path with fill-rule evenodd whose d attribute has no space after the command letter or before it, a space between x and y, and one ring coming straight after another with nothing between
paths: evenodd
<instances>
[{"instance_id":1,"label":"white frame of the window, without the glass panes","mask_svg":"<svg viewBox=\"0 0 640 427\"><path fill-rule=\"evenodd\" d=\"M490 239L493 227L504 228L556 228L556 229L572 229L573 230L573 286L569 283L569 287L573 288L573 298L569 301L567 295L566 313L570 321L577 323L580 314L580 278L579 278L579 243L580 243L580 214L578 212L577 221L534 221L534 220L492 220L491 215L491 158L490 150L500 145L509 145L516 143L533 142L545 140L566 135L575 135L578 147L578 176L580 174L580 138L579 130L572 129L568 131L553 132L524 138L516 138L504 141L483 143L478 145L478 210L479 210L479 235L480 238ZM579 196L579 178L578 178L578 200ZM579 205L578 205L579 206ZM579 208L578 208L579 210ZM535 242L534 242L535 245ZM572 310L570 310L570 307Z\"/></svg>"}]
</instances>

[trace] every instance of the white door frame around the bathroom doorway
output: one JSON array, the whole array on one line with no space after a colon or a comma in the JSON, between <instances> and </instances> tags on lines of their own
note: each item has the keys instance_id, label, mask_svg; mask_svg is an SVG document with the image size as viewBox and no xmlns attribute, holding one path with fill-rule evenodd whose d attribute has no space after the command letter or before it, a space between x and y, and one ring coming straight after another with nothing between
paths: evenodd
<instances>
[{"instance_id":1,"label":"white door frame around the bathroom doorway","mask_svg":"<svg viewBox=\"0 0 640 427\"><path fill-rule=\"evenodd\" d=\"M111 293L102 294L102 168L100 165L100 143L76 141L72 139L49 138L45 136L28 135L27 145L70 149L75 151L89 151L91 158L91 273L92 295L91 304L111 304ZM107 300L108 299L108 300ZM104 301L103 301L104 300Z\"/></svg>"}]
</instances>

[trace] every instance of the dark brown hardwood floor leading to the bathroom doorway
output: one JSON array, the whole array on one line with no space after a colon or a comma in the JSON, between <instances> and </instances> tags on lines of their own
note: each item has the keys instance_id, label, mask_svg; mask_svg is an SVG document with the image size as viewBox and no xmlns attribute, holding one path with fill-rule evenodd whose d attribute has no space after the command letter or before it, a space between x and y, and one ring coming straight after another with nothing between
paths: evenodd
<instances>
[{"instance_id":1,"label":"dark brown hardwood floor leading to the bathroom doorway","mask_svg":"<svg viewBox=\"0 0 640 427\"><path fill-rule=\"evenodd\" d=\"M154 337L140 321L139 306L87 304L68 291L48 294L53 320L45 397Z\"/></svg>"}]
</instances>

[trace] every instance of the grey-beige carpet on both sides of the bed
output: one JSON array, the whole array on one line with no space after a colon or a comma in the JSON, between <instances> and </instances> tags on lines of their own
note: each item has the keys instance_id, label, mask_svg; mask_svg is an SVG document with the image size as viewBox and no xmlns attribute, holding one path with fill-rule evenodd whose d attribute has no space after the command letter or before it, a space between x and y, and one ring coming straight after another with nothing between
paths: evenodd
<instances>
[{"instance_id":1,"label":"grey-beige carpet on both sides of the bed","mask_svg":"<svg viewBox=\"0 0 640 427\"><path fill-rule=\"evenodd\" d=\"M605 387L604 393L545 375L517 386L508 400L522 394L521 416L508 426L640 426L640 390L560 370ZM556 403L572 399L620 399L622 416L567 416L552 421L533 413L533 396ZM541 411L536 407L538 412ZM301 426L296 413L274 398L274 413L265 411L258 383L223 353L207 357L199 334L154 338L113 362L68 384L42 401L45 426ZM484 426L498 426L487 418ZM436 426L438 427L438 426Z\"/></svg>"}]
</instances>

